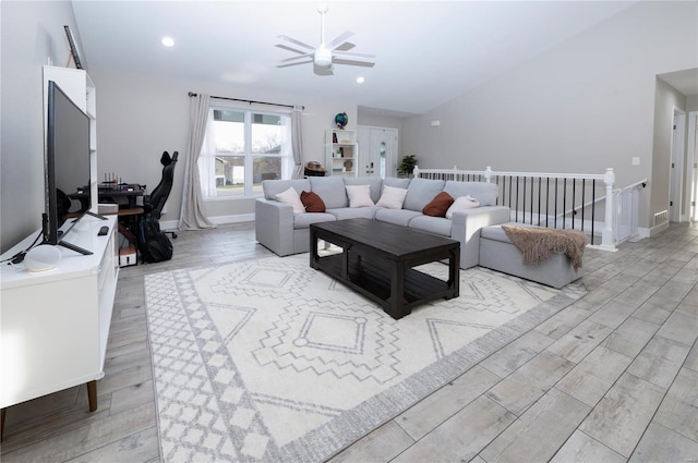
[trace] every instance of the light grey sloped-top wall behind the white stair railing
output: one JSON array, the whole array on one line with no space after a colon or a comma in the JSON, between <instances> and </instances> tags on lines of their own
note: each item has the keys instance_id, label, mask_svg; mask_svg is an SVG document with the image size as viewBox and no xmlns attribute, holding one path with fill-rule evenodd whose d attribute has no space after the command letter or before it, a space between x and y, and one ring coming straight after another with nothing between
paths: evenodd
<instances>
[{"instance_id":1,"label":"light grey sloped-top wall behind the white stair railing","mask_svg":"<svg viewBox=\"0 0 698 463\"><path fill-rule=\"evenodd\" d=\"M698 66L697 2L638 2L402 123L420 167L652 178L655 75ZM440 120L432 127L430 122ZM631 166L639 157L640 165ZM640 227L654 210L643 195Z\"/></svg>"}]
</instances>

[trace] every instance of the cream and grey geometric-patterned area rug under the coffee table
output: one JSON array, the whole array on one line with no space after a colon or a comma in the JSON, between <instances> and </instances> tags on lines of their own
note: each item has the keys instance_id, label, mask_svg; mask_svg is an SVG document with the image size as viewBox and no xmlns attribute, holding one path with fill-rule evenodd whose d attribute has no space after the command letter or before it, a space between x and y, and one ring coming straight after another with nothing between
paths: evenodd
<instances>
[{"instance_id":1,"label":"cream and grey geometric-patterned area rug under the coffee table","mask_svg":"<svg viewBox=\"0 0 698 463\"><path fill-rule=\"evenodd\" d=\"M460 276L400 320L308 254L147 276L163 461L322 461L586 293Z\"/></svg>"}]
</instances>

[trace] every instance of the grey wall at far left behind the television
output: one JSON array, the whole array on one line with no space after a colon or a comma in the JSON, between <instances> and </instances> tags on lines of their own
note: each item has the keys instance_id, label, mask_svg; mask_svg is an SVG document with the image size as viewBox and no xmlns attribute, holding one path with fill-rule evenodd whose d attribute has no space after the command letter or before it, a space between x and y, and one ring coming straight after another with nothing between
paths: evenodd
<instances>
[{"instance_id":1,"label":"grey wall at far left behind the television","mask_svg":"<svg viewBox=\"0 0 698 463\"><path fill-rule=\"evenodd\" d=\"M44 212L44 64L65 65L63 25L82 49L69 1L2 1L0 247L38 230Z\"/></svg>"}]
</instances>

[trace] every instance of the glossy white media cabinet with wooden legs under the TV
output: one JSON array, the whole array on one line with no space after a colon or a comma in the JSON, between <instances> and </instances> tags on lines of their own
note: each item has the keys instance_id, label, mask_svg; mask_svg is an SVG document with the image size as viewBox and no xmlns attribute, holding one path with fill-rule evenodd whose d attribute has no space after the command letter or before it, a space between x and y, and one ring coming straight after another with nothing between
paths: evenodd
<instances>
[{"instance_id":1,"label":"glossy white media cabinet with wooden legs under the TV","mask_svg":"<svg viewBox=\"0 0 698 463\"><path fill-rule=\"evenodd\" d=\"M53 269L29 272L23 264L0 267L0 407L86 383L97 410L107 338L119 276L116 216L84 216L64 240L92 255L58 246ZM109 233L98 236L99 229ZM38 235L2 255L26 249Z\"/></svg>"}]
</instances>

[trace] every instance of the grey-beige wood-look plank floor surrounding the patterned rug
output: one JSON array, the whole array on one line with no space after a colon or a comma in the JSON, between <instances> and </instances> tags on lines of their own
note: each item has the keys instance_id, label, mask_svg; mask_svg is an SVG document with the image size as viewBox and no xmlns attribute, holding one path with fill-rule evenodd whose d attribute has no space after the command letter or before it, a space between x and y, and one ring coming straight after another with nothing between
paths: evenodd
<instances>
[{"instance_id":1,"label":"grey-beige wood-look plank floor surrounding the patterned rug","mask_svg":"<svg viewBox=\"0 0 698 463\"><path fill-rule=\"evenodd\" d=\"M9 407L2 462L160 460L144 275L270 254L252 223L173 243L121 269L97 412L84 386ZM587 296L330 461L698 461L698 224L585 268Z\"/></svg>"}]
</instances>

